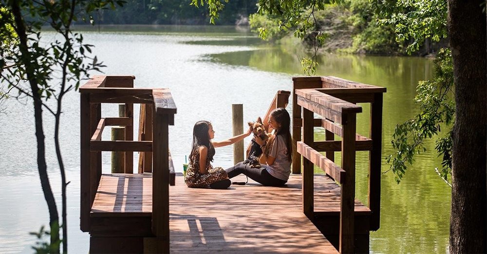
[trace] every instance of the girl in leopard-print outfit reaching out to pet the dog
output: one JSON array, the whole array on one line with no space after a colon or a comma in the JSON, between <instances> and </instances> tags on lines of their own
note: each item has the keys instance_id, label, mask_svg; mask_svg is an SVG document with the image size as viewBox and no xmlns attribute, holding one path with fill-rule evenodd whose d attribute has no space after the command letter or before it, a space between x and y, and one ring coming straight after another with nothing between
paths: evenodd
<instances>
[{"instance_id":1,"label":"girl in leopard-print outfit reaching out to pet the dog","mask_svg":"<svg viewBox=\"0 0 487 254\"><path fill-rule=\"evenodd\" d=\"M193 144L189 154L189 164L185 182L188 187L202 188L210 186L216 189L226 189L231 182L226 171L220 167L213 168L211 162L215 155L215 147L223 147L238 142L249 136L247 133L231 137L223 141L211 141L215 136L213 126L208 121L198 121L193 127Z\"/></svg>"}]
</instances>

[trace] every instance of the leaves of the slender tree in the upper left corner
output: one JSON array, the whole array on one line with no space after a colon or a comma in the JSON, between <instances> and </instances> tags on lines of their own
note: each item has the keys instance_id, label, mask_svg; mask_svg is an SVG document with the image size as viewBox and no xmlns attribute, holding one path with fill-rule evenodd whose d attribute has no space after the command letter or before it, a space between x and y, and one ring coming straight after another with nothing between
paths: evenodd
<instances>
[{"instance_id":1,"label":"leaves of the slender tree in the upper left corner","mask_svg":"<svg viewBox=\"0 0 487 254\"><path fill-rule=\"evenodd\" d=\"M93 24L94 17L91 13L98 8L113 7L121 1L94 0L94 1L44 1L43 4L36 4L34 1L22 1L21 7L31 18L25 20L27 40L29 45L29 56L22 56L19 53L19 44L5 44L0 48L0 54L4 55L0 68L7 68L2 73L1 79L9 84L9 87L16 86L20 93L27 94L22 83L28 80L27 67L23 64L22 57L37 59L32 62L33 73L39 86L39 94L46 100L53 96L56 86L51 82L56 80L59 70L66 79L62 83L73 84L66 88L69 91L77 88L81 80L88 75L89 71L99 71L104 67L96 56L91 56L93 45L83 43L83 36L74 33L71 25L75 21L89 21ZM6 5L2 4L6 9ZM67 10L71 8L82 8L82 16L70 15ZM7 27L14 27L13 19L6 20L0 30ZM58 39L44 45L41 40L41 27L45 24L51 26L57 34ZM87 62L86 60L90 60ZM65 71L67 68L68 71ZM60 85L60 84L59 84Z\"/></svg>"}]
</instances>

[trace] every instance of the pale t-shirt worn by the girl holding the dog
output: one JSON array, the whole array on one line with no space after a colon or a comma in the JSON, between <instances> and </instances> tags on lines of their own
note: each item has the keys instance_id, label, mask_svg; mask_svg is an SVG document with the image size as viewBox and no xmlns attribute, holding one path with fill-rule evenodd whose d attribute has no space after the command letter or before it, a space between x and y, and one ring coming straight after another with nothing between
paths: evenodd
<instances>
[{"instance_id":1,"label":"pale t-shirt worn by the girl holding the dog","mask_svg":"<svg viewBox=\"0 0 487 254\"><path fill-rule=\"evenodd\" d=\"M291 174L291 161L287 157L286 140L283 136L276 135L269 156L276 160L272 165L267 166L267 172L278 179L287 181Z\"/></svg>"}]
</instances>

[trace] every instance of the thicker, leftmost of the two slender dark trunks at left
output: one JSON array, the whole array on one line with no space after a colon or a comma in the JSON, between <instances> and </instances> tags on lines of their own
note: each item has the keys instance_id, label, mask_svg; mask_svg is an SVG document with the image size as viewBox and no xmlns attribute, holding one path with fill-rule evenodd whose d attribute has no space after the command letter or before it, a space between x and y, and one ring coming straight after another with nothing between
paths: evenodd
<instances>
[{"instance_id":1,"label":"thicker, leftmost of the two slender dark trunks at left","mask_svg":"<svg viewBox=\"0 0 487 254\"><path fill-rule=\"evenodd\" d=\"M40 184L44 198L49 210L49 224L51 231L51 253L59 253L59 216L57 213L56 200L54 199L49 176L47 174L47 164L45 156L45 136L42 125L42 103L39 94L39 87L34 75L34 68L32 62L36 59L30 59L30 54L27 45L27 34L25 24L22 20L20 12L19 1L9 1L12 7L12 14L15 18L15 30L19 36L19 50L21 53L21 60L25 66L27 79L31 86L32 96L34 98L34 118L36 122L36 139L37 139L37 169L39 171Z\"/></svg>"}]
</instances>

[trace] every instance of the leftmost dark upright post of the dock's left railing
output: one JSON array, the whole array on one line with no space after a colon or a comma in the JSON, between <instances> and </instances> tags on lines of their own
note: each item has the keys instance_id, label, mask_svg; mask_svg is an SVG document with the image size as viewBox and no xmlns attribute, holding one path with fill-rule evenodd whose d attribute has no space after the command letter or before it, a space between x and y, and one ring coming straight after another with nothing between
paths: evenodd
<instances>
[{"instance_id":1,"label":"leftmost dark upright post of the dock's left railing","mask_svg":"<svg viewBox=\"0 0 487 254\"><path fill-rule=\"evenodd\" d=\"M90 181L90 94L80 95L80 228L83 232L90 231L91 212L91 181Z\"/></svg>"}]
</instances>

